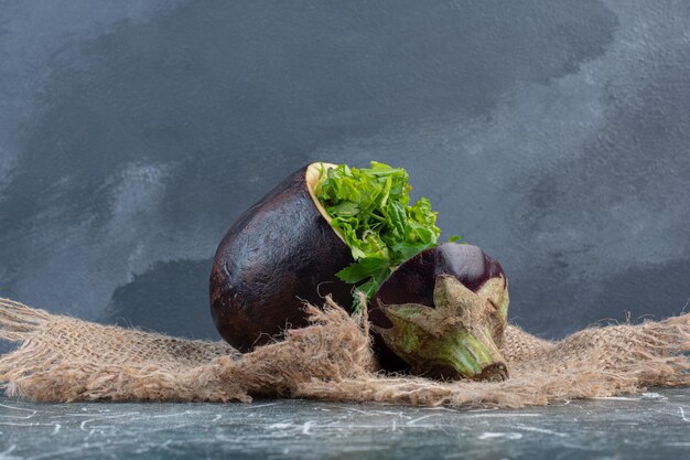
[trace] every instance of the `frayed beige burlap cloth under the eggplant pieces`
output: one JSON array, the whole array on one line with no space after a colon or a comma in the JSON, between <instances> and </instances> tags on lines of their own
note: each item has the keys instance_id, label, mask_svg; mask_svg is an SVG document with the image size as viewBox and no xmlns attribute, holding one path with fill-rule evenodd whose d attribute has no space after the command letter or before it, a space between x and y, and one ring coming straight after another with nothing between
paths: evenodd
<instances>
[{"instance_id":1,"label":"frayed beige burlap cloth under the eggplant pieces","mask_svg":"<svg viewBox=\"0 0 690 460\"><path fill-rule=\"evenodd\" d=\"M376 372L366 318L326 301L309 328L245 355L220 342L100 325L0 299L0 357L9 396L39 402L206 400L252 397L524 407L690 384L690 314L590 328L560 342L508 327L502 383L434 382Z\"/></svg>"}]
</instances>

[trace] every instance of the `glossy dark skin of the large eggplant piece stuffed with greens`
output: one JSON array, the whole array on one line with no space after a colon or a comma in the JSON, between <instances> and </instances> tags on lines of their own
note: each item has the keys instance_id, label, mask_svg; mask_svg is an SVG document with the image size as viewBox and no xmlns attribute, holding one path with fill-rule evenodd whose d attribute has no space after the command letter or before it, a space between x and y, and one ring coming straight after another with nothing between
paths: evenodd
<instances>
[{"instance_id":1,"label":"glossy dark skin of the large eggplant piece stuffed with greens","mask_svg":"<svg viewBox=\"0 0 690 460\"><path fill-rule=\"evenodd\" d=\"M223 339L241 352L306 325L304 301L321 306L332 295L352 307L352 286L335 276L353 263L352 254L316 208L308 167L240 215L216 252L211 314Z\"/></svg>"}]
</instances>

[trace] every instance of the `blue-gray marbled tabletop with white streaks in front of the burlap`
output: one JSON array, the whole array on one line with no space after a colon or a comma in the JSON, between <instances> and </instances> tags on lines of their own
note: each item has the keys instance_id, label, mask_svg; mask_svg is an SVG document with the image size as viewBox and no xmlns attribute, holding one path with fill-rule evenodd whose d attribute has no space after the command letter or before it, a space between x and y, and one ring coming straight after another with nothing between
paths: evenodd
<instances>
[{"instance_id":1,"label":"blue-gray marbled tabletop with white streaks in front of the burlap","mask_svg":"<svg viewBox=\"0 0 690 460\"><path fill-rule=\"evenodd\" d=\"M522 410L0 397L0 459L683 459L690 389Z\"/></svg>"}]
</instances>

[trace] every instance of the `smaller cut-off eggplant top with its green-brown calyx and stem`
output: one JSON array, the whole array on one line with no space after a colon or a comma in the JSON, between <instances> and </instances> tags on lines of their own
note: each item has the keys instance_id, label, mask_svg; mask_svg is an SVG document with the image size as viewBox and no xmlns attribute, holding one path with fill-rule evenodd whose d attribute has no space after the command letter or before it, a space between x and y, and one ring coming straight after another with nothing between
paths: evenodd
<instances>
[{"instance_id":1,"label":"smaller cut-off eggplant top with its green-brown calyx and stem","mask_svg":"<svg viewBox=\"0 0 690 460\"><path fill-rule=\"evenodd\" d=\"M500 264L471 245L442 244L400 265L374 296L380 364L436 378L503 379L499 347L508 285Z\"/></svg>"}]
</instances>

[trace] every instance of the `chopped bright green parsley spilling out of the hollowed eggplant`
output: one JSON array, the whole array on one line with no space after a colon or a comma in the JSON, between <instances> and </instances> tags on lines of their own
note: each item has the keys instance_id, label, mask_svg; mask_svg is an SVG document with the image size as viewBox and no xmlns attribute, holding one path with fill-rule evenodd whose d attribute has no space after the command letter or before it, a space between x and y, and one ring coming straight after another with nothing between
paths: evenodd
<instances>
[{"instance_id":1,"label":"chopped bright green parsley spilling out of the hollowed eggplant","mask_svg":"<svg viewBox=\"0 0 690 460\"><path fill-rule=\"evenodd\" d=\"M314 194L333 221L355 261L336 276L367 298L392 270L419 252L436 246L441 231L431 202L409 205L409 176L402 168L371 161L371 168L322 168ZM455 237L454 237L455 238ZM359 310L358 296L354 296Z\"/></svg>"}]
</instances>

